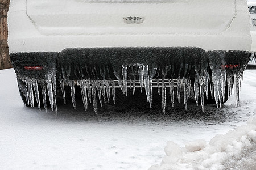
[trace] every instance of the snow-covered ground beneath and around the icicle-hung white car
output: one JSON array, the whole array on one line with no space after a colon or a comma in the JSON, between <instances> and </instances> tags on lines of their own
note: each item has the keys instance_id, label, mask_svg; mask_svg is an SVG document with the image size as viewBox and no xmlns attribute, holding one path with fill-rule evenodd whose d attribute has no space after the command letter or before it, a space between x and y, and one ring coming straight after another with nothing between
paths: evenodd
<instances>
[{"instance_id":1,"label":"snow-covered ground beneath and around the icicle-hung white car","mask_svg":"<svg viewBox=\"0 0 256 170\"><path fill-rule=\"evenodd\" d=\"M167 101L163 115L162 96L149 109L137 94L97 114L67 101L56 117L24 107L14 70L0 70L0 169L256 169L255 74L245 71L238 108L234 96L205 112Z\"/></svg>"}]
</instances>

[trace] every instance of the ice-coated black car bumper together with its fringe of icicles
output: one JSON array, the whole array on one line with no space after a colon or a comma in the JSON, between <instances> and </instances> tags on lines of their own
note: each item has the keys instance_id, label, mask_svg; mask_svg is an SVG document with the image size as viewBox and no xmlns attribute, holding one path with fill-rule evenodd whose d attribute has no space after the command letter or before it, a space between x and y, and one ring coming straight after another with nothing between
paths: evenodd
<instances>
[{"instance_id":1,"label":"ice-coated black car bumper together with its fringe of icicles","mask_svg":"<svg viewBox=\"0 0 256 170\"><path fill-rule=\"evenodd\" d=\"M75 85L78 85L85 110L90 102L97 113L97 103L101 106L109 103L111 95L115 103L115 88L120 88L127 95L127 88L133 88L134 94L136 87L141 91L144 88L151 108L152 88L156 87L159 94L162 93L165 114L166 92L170 91L171 104L174 106L175 88L179 102L183 97L185 109L191 88L196 104L201 104L202 111L205 100L214 100L221 108L232 89L238 106L242 73L250 53L205 52L200 48L71 48L60 53L12 53L11 59L20 95L24 103L31 107L34 107L35 98L40 109L41 99L44 108L47 108L49 101L52 110L57 112L57 89L62 92L65 103L65 86L69 86L76 109ZM26 69L26 66L37 68L37 65L43 69ZM153 80L157 82L154 87Z\"/></svg>"}]
</instances>

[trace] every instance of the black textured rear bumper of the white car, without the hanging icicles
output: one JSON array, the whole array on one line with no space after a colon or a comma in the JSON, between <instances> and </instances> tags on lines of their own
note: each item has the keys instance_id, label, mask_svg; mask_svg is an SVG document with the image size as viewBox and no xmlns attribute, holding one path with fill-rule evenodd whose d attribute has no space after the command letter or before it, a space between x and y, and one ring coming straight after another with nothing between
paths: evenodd
<instances>
[{"instance_id":1,"label":"black textured rear bumper of the white car, without the hanging icicles","mask_svg":"<svg viewBox=\"0 0 256 170\"><path fill-rule=\"evenodd\" d=\"M129 79L138 79L138 67L148 65L157 69L153 79L162 79L164 69L170 67L167 79L194 79L196 70L203 67L209 70L210 57L220 61L218 67L229 65L245 67L250 59L246 51L208 51L200 48L69 48L62 52L11 53L16 74L20 79L45 79L49 70L57 71L57 80L117 80L122 78L123 65L130 66ZM22 58L22 59L21 59ZM217 61L216 61L217 62ZM25 67L42 67L42 70L30 70ZM134 68L133 68L134 67ZM197 67L197 68L196 68ZM133 71L131 69L133 68ZM239 70L238 67L232 67Z\"/></svg>"}]
</instances>

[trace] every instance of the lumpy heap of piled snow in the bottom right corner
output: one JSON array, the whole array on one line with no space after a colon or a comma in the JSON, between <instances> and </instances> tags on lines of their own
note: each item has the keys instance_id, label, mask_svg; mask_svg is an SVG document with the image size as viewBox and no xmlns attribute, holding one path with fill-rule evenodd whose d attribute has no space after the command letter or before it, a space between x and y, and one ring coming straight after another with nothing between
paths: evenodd
<instances>
[{"instance_id":1,"label":"lumpy heap of piled snow in the bottom right corner","mask_svg":"<svg viewBox=\"0 0 256 170\"><path fill-rule=\"evenodd\" d=\"M256 118L253 117L247 125L230 130L225 135L216 135L209 143L203 140L192 141L185 147L180 147L172 141L167 142L164 149L166 156L162 163L153 165L150 170L226 169L230 160L239 162L246 152L255 152L255 147Z\"/></svg>"}]
</instances>

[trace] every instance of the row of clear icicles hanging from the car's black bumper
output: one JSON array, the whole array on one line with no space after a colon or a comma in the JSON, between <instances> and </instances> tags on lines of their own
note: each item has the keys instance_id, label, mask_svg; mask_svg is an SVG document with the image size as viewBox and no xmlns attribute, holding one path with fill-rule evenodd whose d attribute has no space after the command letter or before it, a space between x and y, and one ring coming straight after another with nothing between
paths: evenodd
<instances>
[{"instance_id":1,"label":"row of clear icicles hanging from the car's black bumper","mask_svg":"<svg viewBox=\"0 0 256 170\"><path fill-rule=\"evenodd\" d=\"M106 50L106 49L104 49ZM158 50L158 49L156 49ZM169 50L169 49L168 49ZM214 96L217 108L222 108L222 103L226 100L225 97L228 97L232 93L232 88L234 86L234 94L236 95L236 104L239 105L239 90L242 79L242 73L246 65L237 65L233 64L232 58L236 54L239 61L239 52L223 52L223 51L214 51L214 52L204 52L202 49L170 49L170 50L181 50L184 54L190 55L190 53L195 50L199 50L199 54L195 53L195 56L189 56L192 59L185 58L184 55L180 61L171 61L171 58L159 64L158 59L155 61L147 61L141 63L133 63L127 61L121 63L120 61L114 61L112 66L106 66L104 64L97 65L79 65L72 66L73 63L66 63L64 66L61 66L60 76L58 77L59 86L57 86L57 69L56 64L48 66L43 78L32 78L29 76L21 76L17 74L20 91L24 94L27 104L34 107L34 97L36 103L40 109L40 95L38 90L38 83L42 87L42 96L44 108L47 108L46 105L46 96L48 95L49 103L52 110L57 113L57 87L60 87L60 90L63 95L64 104L66 103L65 95L65 86L69 86L71 90L71 98L74 109L76 109L76 94L75 86L78 85L81 88L81 96L84 104L85 110L88 108L88 103L93 103L93 108L95 113L97 113L97 101L102 105L106 102L110 103L110 95L112 94L113 103L115 103L115 88L121 88L121 91L126 96L128 83L130 86L129 90L133 91L135 95L135 88L140 87L141 92L143 88L147 96L147 102L152 107L152 88L153 88L153 79L156 80L154 87L157 88L158 94L160 95L160 88L162 88L162 109L165 114L166 111L166 90L170 87L170 97L171 104L174 107L174 90L177 88L177 100L180 103L181 97L184 100L184 108L188 107L188 98L193 86L193 91L195 95L196 105L199 105L199 98L201 100L201 108L204 112L204 103L205 100L208 100L208 96ZM108 50L106 50L108 51ZM80 51L79 51L80 52ZM202 52L203 54L200 54ZM159 50L159 53L162 53L162 50ZM238 53L238 54L237 54ZM186 54L186 55L187 55ZM241 53L242 55L243 53ZM152 56L154 58L154 56ZM226 59L228 59L229 64L226 64ZM176 63L175 63L176 62ZM147 64L148 63L148 64ZM112 70L113 73L110 73ZM115 76L115 77L114 77ZM136 79L137 78L137 79ZM169 83L166 84L166 80L169 80ZM115 84L118 81L118 85ZM161 82L160 82L161 81ZM175 82L175 83L174 83ZM193 84L191 84L191 82ZM177 85L177 86L175 86ZM184 87L184 88L183 88ZM110 88L112 91L110 92ZM132 89L131 89L132 88ZM226 91L227 88L227 91ZM181 91L182 95L181 96ZM210 94L209 94L210 91ZM98 94L98 95L97 95ZM102 101L102 96L104 103ZM205 99L206 97L206 99Z\"/></svg>"}]
</instances>

